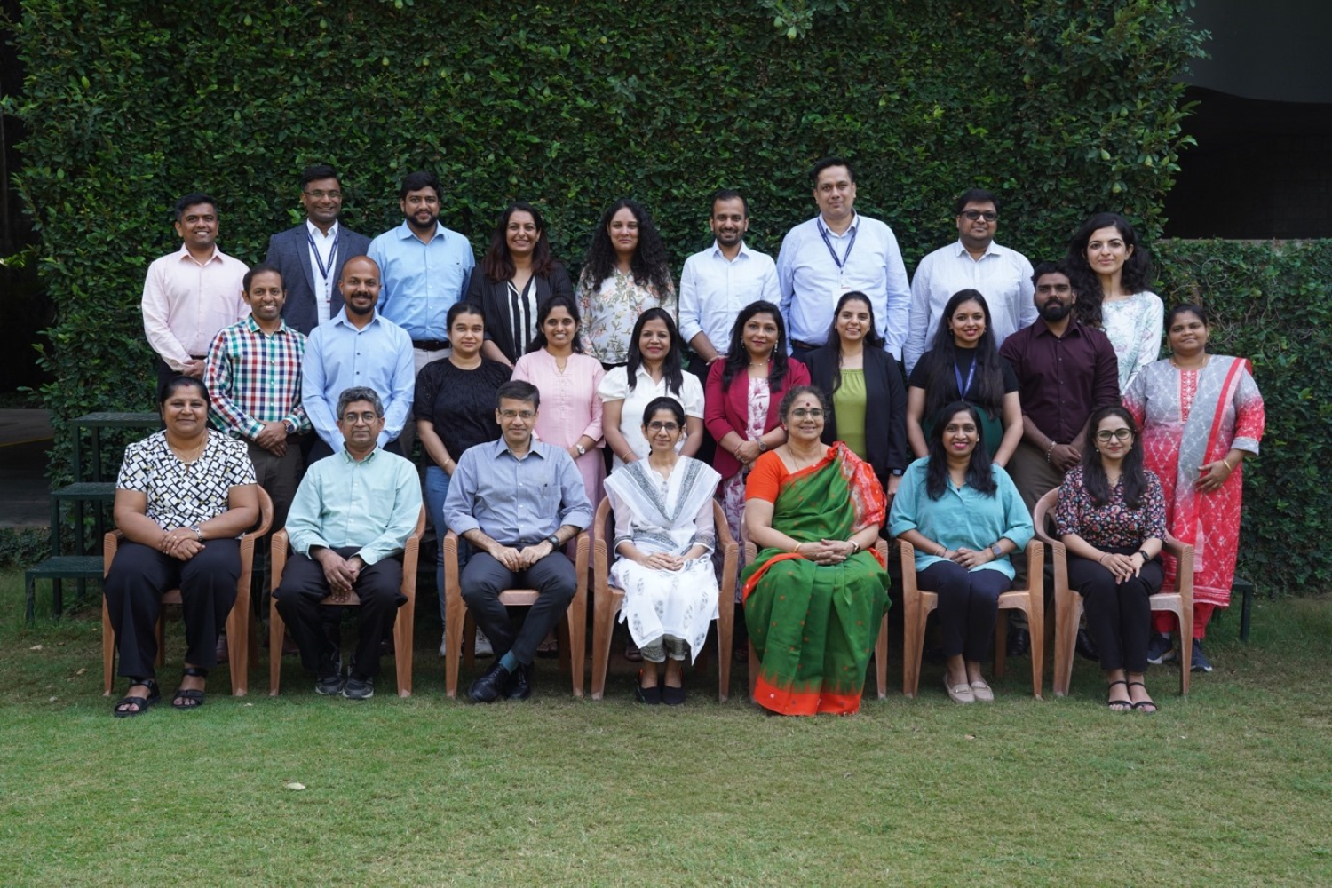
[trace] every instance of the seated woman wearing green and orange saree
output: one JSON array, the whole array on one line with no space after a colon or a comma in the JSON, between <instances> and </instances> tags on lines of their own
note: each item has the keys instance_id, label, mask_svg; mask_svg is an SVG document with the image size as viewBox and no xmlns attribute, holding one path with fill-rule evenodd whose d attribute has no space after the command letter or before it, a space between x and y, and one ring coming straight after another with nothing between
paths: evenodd
<instances>
[{"instance_id":1,"label":"seated woman wearing green and orange saree","mask_svg":"<svg viewBox=\"0 0 1332 888\"><path fill-rule=\"evenodd\" d=\"M745 527L758 558L741 575L758 663L754 700L781 715L860 708L888 572L874 549L883 487L840 441L825 445L823 393L782 399L786 443L754 462Z\"/></svg>"}]
</instances>

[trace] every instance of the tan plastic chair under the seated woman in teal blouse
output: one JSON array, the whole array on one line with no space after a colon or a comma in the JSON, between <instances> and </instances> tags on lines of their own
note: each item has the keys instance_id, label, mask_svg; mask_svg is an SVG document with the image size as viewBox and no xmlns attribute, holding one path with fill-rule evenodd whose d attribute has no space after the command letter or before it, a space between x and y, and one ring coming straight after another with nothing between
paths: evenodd
<instances>
[{"instance_id":1,"label":"tan plastic chair under the seated woman in teal blouse","mask_svg":"<svg viewBox=\"0 0 1332 888\"><path fill-rule=\"evenodd\" d=\"M924 650L924 624L930 611L939 606L939 594L916 586L915 547L898 541L902 556L902 695L914 698L920 687L920 655ZM995 679L1004 674L1008 650L1008 615L1023 611L1031 630L1031 695L1040 698L1042 674L1046 668L1046 547L1039 539L1027 543L1027 586L1010 588L999 595L999 620L995 623Z\"/></svg>"}]
</instances>

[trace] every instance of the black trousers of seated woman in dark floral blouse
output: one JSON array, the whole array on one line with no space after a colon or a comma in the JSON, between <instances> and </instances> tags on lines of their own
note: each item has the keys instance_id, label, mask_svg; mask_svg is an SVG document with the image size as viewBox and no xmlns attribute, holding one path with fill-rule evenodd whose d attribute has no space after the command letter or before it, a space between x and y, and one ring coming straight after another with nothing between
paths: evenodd
<instances>
[{"instance_id":1,"label":"black trousers of seated woman in dark floral blouse","mask_svg":"<svg viewBox=\"0 0 1332 888\"><path fill-rule=\"evenodd\" d=\"M1132 555L1136 547L1107 549L1118 555ZM1147 671L1147 639L1152 627L1151 598L1162 591L1166 572L1158 556L1143 564L1138 576L1123 583L1099 563L1068 556L1068 584L1083 596L1087 630L1100 652L1100 668ZM1187 667L1185 667L1187 668Z\"/></svg>"}]
</instances>

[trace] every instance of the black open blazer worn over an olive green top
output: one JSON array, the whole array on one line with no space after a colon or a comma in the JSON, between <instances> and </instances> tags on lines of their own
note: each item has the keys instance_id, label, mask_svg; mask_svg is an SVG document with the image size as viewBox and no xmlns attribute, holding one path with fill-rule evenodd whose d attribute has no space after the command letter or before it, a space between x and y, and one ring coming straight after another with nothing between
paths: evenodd
<instances>
[{"instance_id":1,"label":"black open blazer worn over an olive green top","mask_svg":"<svg viewBox=\"0 0 1332 888\"><path fill-rule=\"evenodd\" d=\"M836 341L815 349L805 361L810 367L811 382L823 389L829 401L823 443L838 439L836 414L832 410L836 362ZM894 469L904 470L911 462L907 447L907 394L902 386L902 373L891 354L870 346L864 349L864 450L870 467L882 485L887 485Z\"/></svg>"}]
</instances>

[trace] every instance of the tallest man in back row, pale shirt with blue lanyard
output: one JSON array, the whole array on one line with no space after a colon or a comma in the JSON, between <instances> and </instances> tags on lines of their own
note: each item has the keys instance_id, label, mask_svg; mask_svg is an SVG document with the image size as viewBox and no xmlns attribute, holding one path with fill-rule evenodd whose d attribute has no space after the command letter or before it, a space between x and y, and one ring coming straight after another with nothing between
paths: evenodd
<instances>
[{"instance_id":1,"label":"tallest man in back row, pale shirt with blue lanyard","mask_svg":"<svg viewBox=\"0 0 1332 888\"><path fill-rule=\"evenodd\" d=\"M838 300L859 290L870 297L884 351L900 361L911 289L898 238L886 224L855 212L855 170L847 161L825 157L810 178L819 214L793 228L777 256L791 354L799 358L823 345Z\"/></svg>"}]
</instances>

